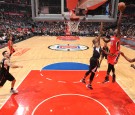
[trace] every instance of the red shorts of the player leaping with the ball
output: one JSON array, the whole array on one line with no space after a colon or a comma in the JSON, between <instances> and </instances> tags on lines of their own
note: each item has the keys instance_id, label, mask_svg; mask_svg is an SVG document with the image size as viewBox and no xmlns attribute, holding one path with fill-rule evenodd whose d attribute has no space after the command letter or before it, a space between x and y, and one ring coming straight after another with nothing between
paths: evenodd
<instances>
[{"instance_id":1,"label":"red shorts of the player leaping with the ball","mask_svg":"<svg viewBox=\"0 0 135 115\"><path fill-rule=\"evenodd\" d=\"M107 56L108 63L112 65L117 64L119 56L120 56L120 52L116 52L115 56L108 55Z\"/></svg>"}]
</instances>

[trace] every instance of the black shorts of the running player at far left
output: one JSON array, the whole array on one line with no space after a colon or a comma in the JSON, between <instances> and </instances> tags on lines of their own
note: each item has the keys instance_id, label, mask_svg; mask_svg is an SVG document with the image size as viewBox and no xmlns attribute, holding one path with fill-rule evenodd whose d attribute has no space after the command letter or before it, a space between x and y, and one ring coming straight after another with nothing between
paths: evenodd
<instances>
[{"instance_id":1,"label":"black shorts of the running player at far left","mask_svg":"<svg viewBox=\"0 0 135 115\"><path fill-rule=\"evenodd\" d=\"M7 80L13 81L13 80L15 80L15 78L9 72L7 72L6 74L1 74L0 75L0 86L3 86Z\"/></svg>"}]
</instances>

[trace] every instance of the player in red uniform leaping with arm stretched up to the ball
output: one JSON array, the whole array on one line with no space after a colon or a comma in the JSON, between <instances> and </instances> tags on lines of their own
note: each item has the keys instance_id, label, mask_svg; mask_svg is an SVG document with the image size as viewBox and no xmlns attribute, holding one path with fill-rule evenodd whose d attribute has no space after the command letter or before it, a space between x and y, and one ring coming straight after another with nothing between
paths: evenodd
<instances>
[{"instance_id":1,"label":"player in red uniform leaping with arm stretched up to the ball","mask_svg":"<svg viewBox=\"0 0 135 115\"><path fill-rule=\"evenodd\" d=\"M121 18L122 18L122 11L120 11L120 16L118 19L117 23L117 29L114 31L114 36L111 36L108 42L111 42L110 44L110 52L104 51L108 56L107 56L107 61L108 61L108 69L107 69L107 74L105 77L105 80L103 83L106 83L109 81L109 74L112 71L112 82L115 82L116 76L115 76L115 68L114 65L117 63L119 55L120 55L120 25L121 25ZM106 42L106 39L103 38L103 40Z\"/></svg>"}]
</instances>

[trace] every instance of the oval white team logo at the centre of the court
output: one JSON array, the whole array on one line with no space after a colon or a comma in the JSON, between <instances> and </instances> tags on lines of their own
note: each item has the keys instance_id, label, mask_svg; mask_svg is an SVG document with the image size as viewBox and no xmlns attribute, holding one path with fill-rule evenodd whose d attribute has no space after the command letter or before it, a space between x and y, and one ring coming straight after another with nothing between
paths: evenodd
<instances>
[{"instance_id":1,"label":"oval white team logo at the centre of the court","mask_svg":"<svg viewBox=\"0 0 135 115\"><path fill-rule=\"evenodd\" d=\"M89 49L88 46L84 45L75 45L75 44L56 44L48 47L51 50L57 51L83 51Z\"/></svg>"}]
</instances>

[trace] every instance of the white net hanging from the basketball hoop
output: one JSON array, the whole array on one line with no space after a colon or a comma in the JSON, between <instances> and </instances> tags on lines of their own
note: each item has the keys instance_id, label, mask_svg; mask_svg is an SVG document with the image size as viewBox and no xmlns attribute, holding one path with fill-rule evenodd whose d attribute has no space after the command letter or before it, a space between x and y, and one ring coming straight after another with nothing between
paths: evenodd
<instances>
[{"instance_id":1,"label":"white net hanging from the basketball hoop","mask_svg":"<svg viewBox=\"0 0 135 115\"><path fill-rule=\"evenodd\" d=\"M79 26L79 24L80 24L80 21L78 20L78 21L72 21L72 20L70 20L70 21L68 21L68 27L69 27L69 31L70 32L78 32L78 26Z\"/></svg>"}]
</instances>

